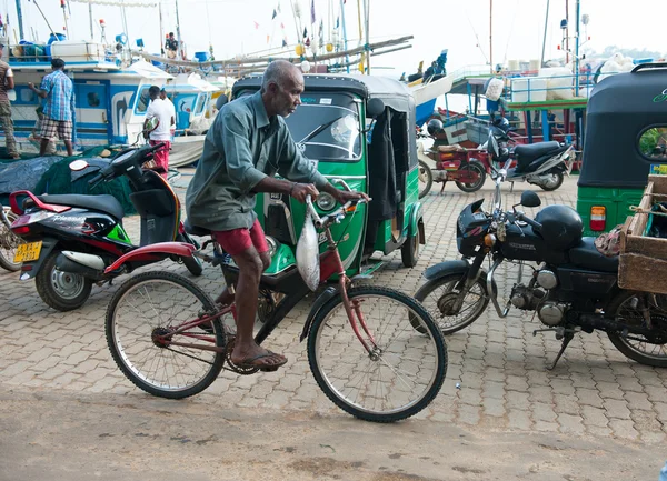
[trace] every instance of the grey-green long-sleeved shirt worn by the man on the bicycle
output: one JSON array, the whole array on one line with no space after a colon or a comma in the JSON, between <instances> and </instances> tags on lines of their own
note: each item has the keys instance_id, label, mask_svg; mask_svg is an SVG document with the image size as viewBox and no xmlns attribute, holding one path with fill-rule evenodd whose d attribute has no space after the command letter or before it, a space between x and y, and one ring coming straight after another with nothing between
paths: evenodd
<instances>
[{"instance_id":1,"label":"grey-green long-sleeved shirt worn by the man on the bicycle","mask_svg":"<svg viewBox=\"0 0 667 481\"><path fill-rule=\"evenodd\" d=\"M215 231L255 223L252 188L278 172L296 181L327 180L295 144L285 119L267 116L260 92L229 102L218 112L186 194L188 220Z\"/></svg>"}]
</instances>

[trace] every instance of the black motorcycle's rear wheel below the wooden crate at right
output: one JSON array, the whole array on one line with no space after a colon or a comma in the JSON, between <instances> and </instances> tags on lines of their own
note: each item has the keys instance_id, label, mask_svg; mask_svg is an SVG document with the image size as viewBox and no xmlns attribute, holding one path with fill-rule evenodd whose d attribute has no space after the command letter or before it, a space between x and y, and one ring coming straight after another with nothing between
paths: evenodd
<instances>
[{"instance_id":1,"label":"black motorcycle's rear wheel below the wooden crate at right","mask_svg":"<svg viewBox=\"0 0 667 481\"><path fill-rule=\"evenodd\" d=\"M645 314L648 311L650 328L656 330L654 339L613 332L608 332L607 337L625 357L640 364L667 368L667 295L621 292L606 311L617 322L638 327L647 327Z\"/></svg>"}]
</instances>

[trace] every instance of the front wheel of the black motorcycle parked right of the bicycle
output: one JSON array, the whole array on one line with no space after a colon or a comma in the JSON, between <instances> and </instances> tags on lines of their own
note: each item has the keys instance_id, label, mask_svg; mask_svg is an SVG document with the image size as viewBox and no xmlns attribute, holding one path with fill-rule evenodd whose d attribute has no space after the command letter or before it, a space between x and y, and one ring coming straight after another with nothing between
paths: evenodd
<instances>
[{"instance_id":1,"label":"front wheel of the black motorcycle parked right of the bicycle","mask_svg":"<svg viewBox=\"0 0 667 481\"><path fill-rule=\"evenodd\" d=\"M419 288L415 294L415 299L421 302L445 335L454 334L470 325L489 304L486 278L479 277L466 293L460 309L454 310L454 303L460 292L457 284L465 278L466 274L455 273L434 279ZM418 330L417 327L415 329Z\"/></svg>"}]
</instances>

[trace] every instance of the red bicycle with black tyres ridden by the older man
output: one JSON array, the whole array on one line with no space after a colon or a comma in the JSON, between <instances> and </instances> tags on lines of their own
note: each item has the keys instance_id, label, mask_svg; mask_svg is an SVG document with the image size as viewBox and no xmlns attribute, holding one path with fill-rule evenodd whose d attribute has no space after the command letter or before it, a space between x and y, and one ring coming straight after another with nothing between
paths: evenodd
<instances>
[{"instance_id":1,"label":"red bicycle with black tyres ridden by the older man","mask_svg":"<svg viewBox=\"0 0 667 481\"><path fill-rule=\"evenodd\" d=\"M320 254L320 283L335 274L339 279L338 288L328 287L313 303L300 340L308 339L310 369L335 404L367 421L392 422L416 414L437 395L447 372L447 348L437 324L415 299L388 288L352 287L356 279L345 273L340 239L334 240L330 226L354 216L358 203L347 202L319 218L307 200L307 210L328 242ZM210 234L189 229L196 236ZM209 262L220 259L220 247L211 239L205 248L209 243L215 258L195 254ZM156 245L146 249L151 248ZM162 249L193 252L178 243L162 244ZM238 268L230 262L222 262L221 268L227 285L233 285ZM265 304L259 311L263 323L257 343L309 292L295 265L276 277L262 275ZM276 297L281 297L278 303ZM235 304L217 308L190 280L170 272L147 272L128 280L111 299L107 341L113 360L135 385L162 398L187 398L208 388L222 369L239 374L258 371L231 361L233 331L221 321L228 315L236 315ZM419 331L414 329L416 322Z\"/></svg>"}]
</instances>

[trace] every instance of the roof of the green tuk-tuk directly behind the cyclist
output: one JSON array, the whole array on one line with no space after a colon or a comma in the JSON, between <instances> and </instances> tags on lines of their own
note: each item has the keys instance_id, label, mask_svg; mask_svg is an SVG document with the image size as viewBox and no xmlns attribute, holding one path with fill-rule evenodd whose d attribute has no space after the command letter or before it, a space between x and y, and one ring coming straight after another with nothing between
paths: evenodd
<instances>
[{"instance_id":1,"label":"roof of the green tuk-tuk directly behind the cyclist","mask_svg":"<svg viewBox=\"0 0 667 481\"><path fill-rule=\"evenodd\" d=\"M261 76L245 77L238 80L232 88L232 96L245 89L258 90L261 87ZM356 93L370 100L382 100L387 107L400 112L415 110L415 100L407 86L389 77L374 76L346 76L346 74L307 74L303 76L306 90L331 91L339 90ZM411 116L412 117L412 116Z\"/></svg>"}]
</instances>

